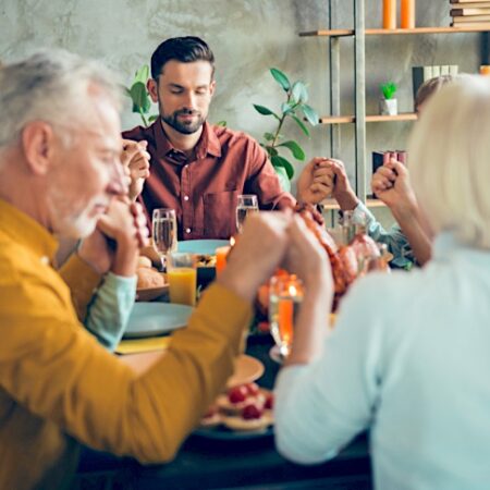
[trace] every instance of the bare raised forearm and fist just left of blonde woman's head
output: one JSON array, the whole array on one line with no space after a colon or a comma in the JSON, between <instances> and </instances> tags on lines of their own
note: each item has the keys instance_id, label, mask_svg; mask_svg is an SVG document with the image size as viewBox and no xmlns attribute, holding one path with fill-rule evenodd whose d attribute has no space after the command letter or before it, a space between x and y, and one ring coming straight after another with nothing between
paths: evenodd
<instances>
[{"instance_id":1,"label":"bare raised forearm and fist just left of blonde woman's head","mask_svg":"<svg viewBox=\"0 0 490 490\"><path fill-rule=\"evenodd\" d=\"M371 186L378 198L391 209L418 264L426 264L431 257L431 241L422 225L406 167L392 160L378 169Z\"/></svg>"}]
</instances>

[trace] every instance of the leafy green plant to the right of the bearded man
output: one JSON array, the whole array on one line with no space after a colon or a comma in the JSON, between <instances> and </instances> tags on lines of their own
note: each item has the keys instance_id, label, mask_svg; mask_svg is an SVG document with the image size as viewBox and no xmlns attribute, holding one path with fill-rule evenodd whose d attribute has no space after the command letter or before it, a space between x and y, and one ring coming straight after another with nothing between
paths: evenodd
<instances>
[{"instance_id":1,"label":"leafy green plant to the right of the bearded man","mask_svg":"<svg viewBox=\"0 0 490 490\"><path fill-rule=\"evenodd\" d=\"M264 143L260 146L266 149L272 166L280 175L287 181L293 179L294 167L291 161L279 155L282 148L287 149L291 155L299 161L304 161L306 156L303 148L297 142L293 139L284 140L284 136L281 134L284 122L286 119L293 120L302 130L302 132L309 137L309 130L304 121L298 117L298 112L303 113L306 121L313 126L318 124L318 114L308 106L308 90L303 82L291 83L287 76L278 69L270 69L272 77L278 82L281 88L284 90L286 100L281 105L281 112L274 112L271 109L254 103L255 110L262 115L272 115L277 120L275 130L272 132L264 133ZM285 174L285 175L284 175ZM284 182L284 180L282 180Z\"/></svg>"}]
</instances>

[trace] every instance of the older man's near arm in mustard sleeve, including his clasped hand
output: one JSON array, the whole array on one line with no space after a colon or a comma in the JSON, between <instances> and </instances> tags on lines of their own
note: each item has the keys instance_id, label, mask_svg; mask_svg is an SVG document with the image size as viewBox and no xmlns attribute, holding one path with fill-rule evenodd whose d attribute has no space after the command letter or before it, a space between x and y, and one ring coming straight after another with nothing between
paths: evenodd
<instances>
[{"instance_id":1,"label":"older man's near arm in mustard sleeve, including his clasped hand","mask_svg":"<svg viewBox=\"0 0 490 490\"><path fill-rule=\"evenodd\" d=\"M8 326L0 343L2 390L94 449L144 463L170 460L233 372L253 292L285 252L287 217L274 215L247 221L225 271L203 295L187 328L139 375L79 327L54 271L40 268L25 282L2 265L12 278L3 280L0 294Z\"/></svg>"}]
</instances>

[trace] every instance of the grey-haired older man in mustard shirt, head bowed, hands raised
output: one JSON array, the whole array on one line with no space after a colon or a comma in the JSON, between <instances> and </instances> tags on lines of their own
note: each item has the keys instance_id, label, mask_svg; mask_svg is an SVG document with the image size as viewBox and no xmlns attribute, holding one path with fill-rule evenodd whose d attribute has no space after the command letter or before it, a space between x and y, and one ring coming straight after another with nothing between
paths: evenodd
<instances>
[{"instance_id":1,"label":"grey-haired older man in mustard shirt, head bowed, hands raised","mask_svg":"<svg viewBox=\"0 0 490 490\"><path fill-rule=\"evenodd\" d=\"M142 243L134 205L119 209L131 234L103 217L125 191L119 98L102 66L66 52L0 71L2 489L62 488L79 443L171 458L232 373L255 291L285 250L279 218L250 220L188 327L145 372L100 346L74 306L84 309L108 270L134 274ZM88 235L60 275L57 237Z\"/></svg>"}]
</instances>

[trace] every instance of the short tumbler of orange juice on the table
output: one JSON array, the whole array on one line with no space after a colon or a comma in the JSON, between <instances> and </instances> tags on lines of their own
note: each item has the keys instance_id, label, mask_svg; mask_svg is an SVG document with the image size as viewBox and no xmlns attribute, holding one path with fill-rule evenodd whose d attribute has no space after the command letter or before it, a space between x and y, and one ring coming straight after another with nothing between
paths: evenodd
<instances>
[{"instance_id":1,"label":"short tumbler of orange juice on the table","mask_svg":"<svg viewBox=\"0 0 490 490\"><path fill-rule=\"evenodd\" d=\"M167 256L167 280L171 303L196 304L197 269L194 254L172 252Z\"/></svg>"}]
</instances>

